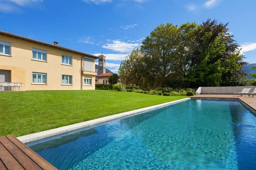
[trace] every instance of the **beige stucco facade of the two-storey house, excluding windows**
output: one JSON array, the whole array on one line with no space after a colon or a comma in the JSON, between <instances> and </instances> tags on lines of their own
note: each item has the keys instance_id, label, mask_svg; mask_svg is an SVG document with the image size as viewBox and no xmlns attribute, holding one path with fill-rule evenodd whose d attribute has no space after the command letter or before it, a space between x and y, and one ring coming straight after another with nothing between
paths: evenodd
<instances>
[{"instance_id":1,"label":"beige stucco facade of the two-storey house, excluding windows","mask_svg":"<svg viewBox=\"0 0 256 170\"><path fill-rule=\"evenodd\" d=\"M20 40L14 37L0 35L0 41L11 43L11 56L0 54L0 70L11 71L11 82L22 82L23 90L94 90L94 71L83 71L83 54L77 54L35 42ZM47 61L32 59L32 48L47 51ZM62 54L72 57L72 65L61 62ZM93 68L95 70L95 58ZM82 67L81 67L82 63ZM47 83L38 85L32 83L32 72L47 74ZM62 75L72 76L72 85L62 85ZM91 85L84 85L84 77L91 77Z\"/></svg>"}]
</instances>

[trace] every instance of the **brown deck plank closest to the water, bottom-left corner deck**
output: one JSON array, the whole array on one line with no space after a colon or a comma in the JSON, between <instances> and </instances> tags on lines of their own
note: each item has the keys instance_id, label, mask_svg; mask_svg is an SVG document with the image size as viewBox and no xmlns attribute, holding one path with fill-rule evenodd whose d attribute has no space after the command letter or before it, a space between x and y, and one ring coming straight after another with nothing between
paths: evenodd
<instances>
[{"instance_id":1,"label":"brown deck plank closest to the water, bottom-left corner deck","mask_svg":"<svg viewBox=\"0 0 256 170\"><path fill-rule=\"evenodd\" d=\"M12 143L14 143L17 147L20 148L20 150L23 151L27 156L29 156L33 161L35 161L36 164L38 164L42 169L44 170L57 170L52 164L50 164L48 161L43 159L41 156L39 156L37 153L35 153L32 149L27 147L25 144L20 142L15 136L9 135L6 136Z\"/></svg>"}]
</instances>

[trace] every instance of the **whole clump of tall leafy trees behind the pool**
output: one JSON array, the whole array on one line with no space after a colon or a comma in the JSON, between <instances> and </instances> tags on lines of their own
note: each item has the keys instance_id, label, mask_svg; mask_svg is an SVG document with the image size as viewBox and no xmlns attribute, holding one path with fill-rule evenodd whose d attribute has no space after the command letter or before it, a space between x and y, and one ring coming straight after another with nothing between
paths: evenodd
<instances>
[{"instance_id":1,"label":"whole clump of tall leafy trees behind the pool","mask_svg":"<svg viewBox=\"0 0 256 170\"><path fill-rule=\"evenodd\" d=\"M227 26L211 19L161 24L125 58L119 74L127 84L150 87L248 85L247 62Z\"/></svg>"}]
</instances>

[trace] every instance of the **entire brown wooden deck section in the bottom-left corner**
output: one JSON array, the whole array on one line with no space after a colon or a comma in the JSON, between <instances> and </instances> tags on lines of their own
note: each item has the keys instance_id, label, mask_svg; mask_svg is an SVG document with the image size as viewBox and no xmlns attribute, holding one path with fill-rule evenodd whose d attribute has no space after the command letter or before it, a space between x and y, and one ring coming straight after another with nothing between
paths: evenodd
<instances>
[{"instance_id":1,"label":"entire brown wooden deck section in the bottom-left corner","mask_svg":"<svg viewBox=\"0 0 256 170\"><path fill-rule=\"evenodd\" d=\"M0 137L0 170L57 170L12 135Z\"/></svg>"}]
</instances>

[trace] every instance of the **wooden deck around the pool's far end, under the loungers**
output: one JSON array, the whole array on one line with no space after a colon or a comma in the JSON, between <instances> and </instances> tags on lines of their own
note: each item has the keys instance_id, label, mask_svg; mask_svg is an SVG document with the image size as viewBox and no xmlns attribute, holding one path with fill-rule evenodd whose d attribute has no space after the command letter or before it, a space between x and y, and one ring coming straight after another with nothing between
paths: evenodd
<instances>
[{"instance_id":1,"label":"wooden deck around the pool's far end, under the loungers","mask_svg":"<svg viewBox=\"0 0 256 170\"><path fill-rule=\"evenodd\" d=\"M197 95L191 96L191 98L207 98L207 99L239 99L241 102L246 104L249 108L251 108L256 113L256 96L230 96L230 95Z\"/></svg>"}]
</instances>

